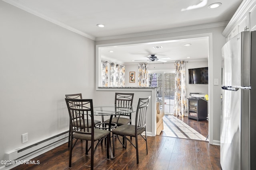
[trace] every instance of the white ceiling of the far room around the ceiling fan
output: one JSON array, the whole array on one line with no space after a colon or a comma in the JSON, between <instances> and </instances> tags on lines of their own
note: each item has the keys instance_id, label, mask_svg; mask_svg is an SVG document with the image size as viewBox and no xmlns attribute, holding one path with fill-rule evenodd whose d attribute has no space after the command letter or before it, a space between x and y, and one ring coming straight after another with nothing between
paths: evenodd
<instances>
[{"instance_id":1,"label":"white ceiling of the far room around the ceiling fan","mask_svg":"<svg viewBox=\"0 0 256 170\"><path fill-rule=\"evenodd\" d=\"M184 44L191 44L184 46ZM155 46L161 46L161 49L154 49ZM208 60L208 37L198 37L190 39L179 39L152 43L141 43L133 45L118 45L100 48L102 58L117 63L142 63L148 60L151 54L155 54L158 59L166 61L190 61L190 60ZM114 51L110 53L109 51ZM190 57L189 59L187 57ZM148 62L148 61L144 61ZM148 62L152 63L152 61Z\"/></svg>"}]
</instances>

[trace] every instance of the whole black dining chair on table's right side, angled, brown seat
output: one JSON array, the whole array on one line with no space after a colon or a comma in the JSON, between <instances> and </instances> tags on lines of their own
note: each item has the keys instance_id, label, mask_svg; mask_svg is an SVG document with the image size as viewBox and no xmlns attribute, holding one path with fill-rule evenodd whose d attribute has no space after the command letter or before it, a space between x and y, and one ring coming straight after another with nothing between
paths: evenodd
<instances>
[{"instance_id":1,"label":"whole black dining chair on table's right side, angled, brown seat","mask_svg":"<svg viewBox=\"0 0 256 170\"><path fill-rule=\"evenodd\" d=\"M136 111L136 118L135 118L135 125L121 125L116 127L112 130L112 134L119 135L124 137L127 141L129 141L132 146L136 149L136 157L137 157L137 164L139 163L139 154L138 154L138 135L142 136L142 133L145 132L145 137L142 138L146 141L146 150L148 154L148 144L147 144L147 133L146 133L146 113L148 109L148 103L151 96L146 98L139 98L138 107ZM132 143L127 136L135 137L135 145ZM125 145L126 148L126 145ZM114 147L114 137L113 137L113 155L115 154L115 147Z\"/></svg>"}]
</instances>

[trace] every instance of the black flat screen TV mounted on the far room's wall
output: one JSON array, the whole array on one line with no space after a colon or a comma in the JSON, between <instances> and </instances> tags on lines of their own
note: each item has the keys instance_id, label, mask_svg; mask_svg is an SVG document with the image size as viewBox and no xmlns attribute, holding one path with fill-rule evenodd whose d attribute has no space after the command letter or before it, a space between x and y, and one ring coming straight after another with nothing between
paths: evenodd
<instances>
[{"instance_id":1,"label":"black flat screen TV mounted on the far room's wall","mask_svg":"<svg viewBox=\"0 0 256 170\"><path fill-rule=\"evenodd\" d=\"M208 84L208 67L188 69L189 84Z\"/></svg>"}]
</instances>

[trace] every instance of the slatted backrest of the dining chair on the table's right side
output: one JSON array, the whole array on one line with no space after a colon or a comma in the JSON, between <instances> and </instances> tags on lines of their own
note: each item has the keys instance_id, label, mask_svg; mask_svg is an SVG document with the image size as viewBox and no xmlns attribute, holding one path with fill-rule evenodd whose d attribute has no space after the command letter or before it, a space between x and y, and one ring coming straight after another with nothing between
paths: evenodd
<instances>
[{"instance_id":1,"label":"slatted backrest of the dining chair on the table's right side","mask_svg":"<svg viewBox=\"0 0 256 170\"><path fill-rule=\"evenodd\" d=\"M148 103L151 96L146 98L140 98L136 111L135 125L137 129L146 127L146 113L148 109Z\"/></svg>"}]
</instances>

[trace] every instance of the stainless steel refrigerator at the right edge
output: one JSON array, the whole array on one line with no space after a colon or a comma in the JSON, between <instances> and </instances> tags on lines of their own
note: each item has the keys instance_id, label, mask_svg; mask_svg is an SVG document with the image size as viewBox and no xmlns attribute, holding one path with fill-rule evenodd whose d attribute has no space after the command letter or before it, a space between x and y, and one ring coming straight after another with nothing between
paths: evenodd
<instances>
[{"instance_id":1,"label":"stainless steel refrigerator at the right edge","mask_svg":"<svg viewBox=\"0 0 256 170\"><path fill-rule=\"evenodd\" d=\"M256 31L222 47L220 164L223 170L256 169Z\"/></svg>"}]
</instances>

